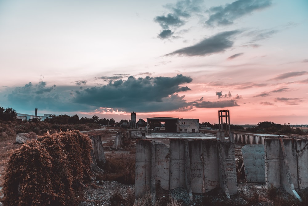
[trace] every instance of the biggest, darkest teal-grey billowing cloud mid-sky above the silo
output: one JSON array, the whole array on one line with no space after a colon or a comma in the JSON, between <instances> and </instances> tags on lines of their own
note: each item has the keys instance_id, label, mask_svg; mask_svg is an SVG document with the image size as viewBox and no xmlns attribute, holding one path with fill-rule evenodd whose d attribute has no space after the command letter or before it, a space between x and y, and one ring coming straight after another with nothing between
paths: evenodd
<instances>
[{"instance_id":1,"label":"biggest, darkest teal-grey billowing cloud mid-sky above the silo","mask_svg":"<svg viewBox=\"0 0 308 206\"><path fill-rule=\"evenodd\" d=\"M84 89L79 94L76 93L74 102L119 110L137 108L140 112L152 112L156 109L159 111L176 110L191 104L183 99L184 96L174 94L190 90L180 85L191 81L192 78L181 74L175 77L135 78L129 76L127 80L110 81L102 87Z\"/></svg>"}]
</instances>

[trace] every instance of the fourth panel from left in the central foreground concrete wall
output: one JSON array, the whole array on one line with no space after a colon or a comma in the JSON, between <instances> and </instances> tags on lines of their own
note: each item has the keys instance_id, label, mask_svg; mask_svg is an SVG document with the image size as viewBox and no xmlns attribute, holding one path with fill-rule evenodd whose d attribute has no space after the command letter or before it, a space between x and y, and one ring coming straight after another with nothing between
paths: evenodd
<instances>
[{"instance_id":1,"label":"fourth panel from left in the central foreground concrete wall","mask_svg":"<svg viewBox=\"0 0 308 206\"><path fill-rule=\"evenodd\" d=\"M190 175L192 192L203 193L203 148L202 140L189 142Z\"/></svg>"}]
</instances>

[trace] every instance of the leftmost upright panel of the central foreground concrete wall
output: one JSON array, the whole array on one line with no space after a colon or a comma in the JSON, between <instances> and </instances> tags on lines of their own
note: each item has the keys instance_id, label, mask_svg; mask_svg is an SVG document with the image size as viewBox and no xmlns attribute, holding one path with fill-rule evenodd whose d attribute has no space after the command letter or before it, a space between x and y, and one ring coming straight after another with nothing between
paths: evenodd
<instances>
[{"instance_id":1,"label":"leftmost upright panel of the central foreground concrete wall","mask_svg":"<svg viewBox=\"0 0 308 206\"><path fill-rule=\"evenodd\" d=\"M135 197L144 196L151 187L151 141L136 141Z\"/></svg>"}]
</instances>

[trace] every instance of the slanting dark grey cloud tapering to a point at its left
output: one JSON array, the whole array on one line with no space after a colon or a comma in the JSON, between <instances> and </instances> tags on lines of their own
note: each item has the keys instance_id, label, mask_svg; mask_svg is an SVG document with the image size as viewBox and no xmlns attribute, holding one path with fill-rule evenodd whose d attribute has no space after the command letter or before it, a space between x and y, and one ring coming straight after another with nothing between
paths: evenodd
<instances>
[{"instance_id":1,"label":"slanting dark grey cloud tapering to a point at its left","mask_svg":"<svg viewBox=\"0 0 308 206\"><path fill-rule=\"evenodd\" d=\"M166 56L176 54L180 56L205 56L213 53L223 52L225 49L233 46L233 41L231 41L230 38L237 33L239 33L237 30L221 32L207 39L204 39L193 46L173 51Z\"/></svg>"}]
</instances>

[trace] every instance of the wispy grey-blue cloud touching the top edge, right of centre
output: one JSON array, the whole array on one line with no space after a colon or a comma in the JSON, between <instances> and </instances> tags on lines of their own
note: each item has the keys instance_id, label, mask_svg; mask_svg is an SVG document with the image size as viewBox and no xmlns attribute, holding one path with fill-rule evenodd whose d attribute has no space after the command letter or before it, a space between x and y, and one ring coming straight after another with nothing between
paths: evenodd
<instances>
[{"instance_id":1,"label":"wispy grey-blue cloud touching the top edge, right of centre","mask_svg":"<svg viewBox=\"0 0 308 206\"><path fill-rule=\"evenodd\" d=\"M235 19L270 5L271 0L238 0L225 6L212 7L209 9L209 19L205 23L209 26L230 25Z\"/></svg>"}]
</instances>

